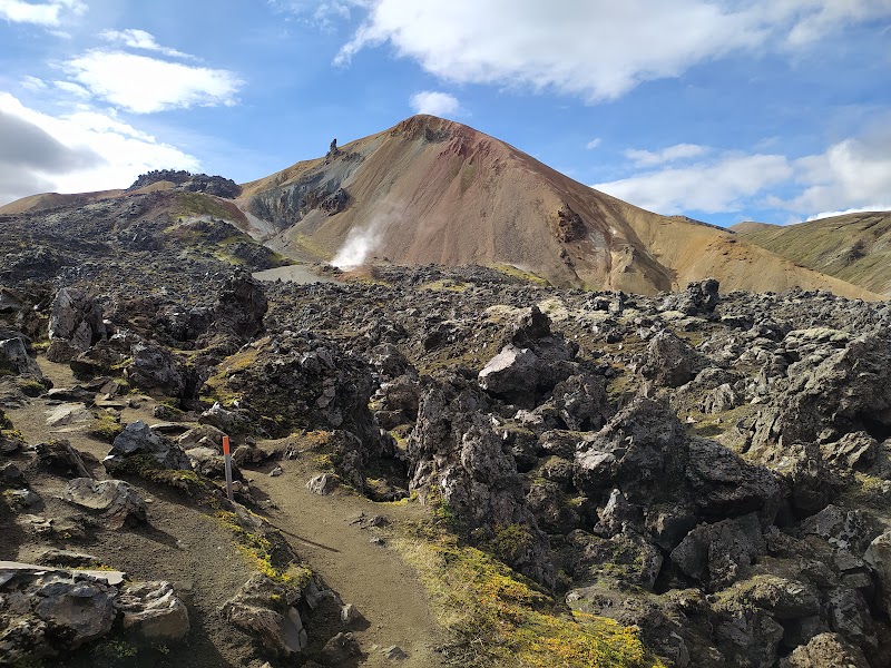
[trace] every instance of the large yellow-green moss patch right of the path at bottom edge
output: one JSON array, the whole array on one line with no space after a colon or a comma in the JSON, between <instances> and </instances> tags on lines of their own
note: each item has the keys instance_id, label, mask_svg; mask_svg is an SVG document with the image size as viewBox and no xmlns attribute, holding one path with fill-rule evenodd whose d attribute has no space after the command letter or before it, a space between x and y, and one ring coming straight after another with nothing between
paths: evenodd
<instances>
[{"instance_id":1,"label":"large yellow-green moss patch right of the path at bottom edge","mask_svg":"<svg viewBox=\"0 0 891 668\"><path fill-rule=\"evenodd\" d=\"M438 620L458 639L450 659L468 667L662 666L634 628L560 611L533 582L435 524L412 530L392 544L418 570Z\"/></svg>"}]
</instances>

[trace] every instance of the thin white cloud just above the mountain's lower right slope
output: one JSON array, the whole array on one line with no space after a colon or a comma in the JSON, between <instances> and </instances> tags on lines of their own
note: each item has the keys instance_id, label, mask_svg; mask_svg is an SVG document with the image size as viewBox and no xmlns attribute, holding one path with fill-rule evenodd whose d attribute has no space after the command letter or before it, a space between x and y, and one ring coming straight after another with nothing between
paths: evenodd
<instances>
[{"instance_id":1,"label":"thin white cloud just above the mountain's lower right slope","mask_svg":"<svg viewBox=\"0 0 891 668\"><path fill-rule=\"evenodd\" d=\"M792 178L784 156L727 154L707 163L669 167L591 186L659 214L737 212L750 198Z\"/></svg>"}]
</instances>

